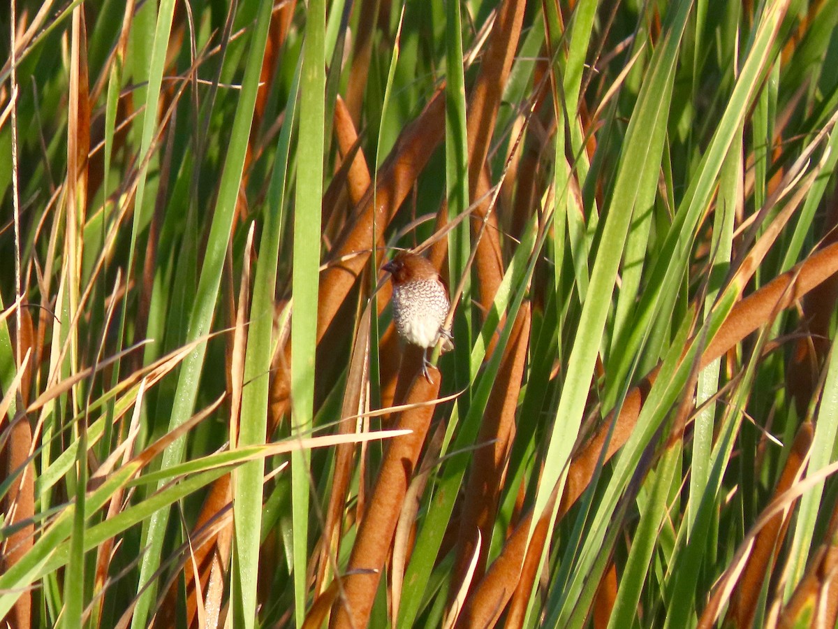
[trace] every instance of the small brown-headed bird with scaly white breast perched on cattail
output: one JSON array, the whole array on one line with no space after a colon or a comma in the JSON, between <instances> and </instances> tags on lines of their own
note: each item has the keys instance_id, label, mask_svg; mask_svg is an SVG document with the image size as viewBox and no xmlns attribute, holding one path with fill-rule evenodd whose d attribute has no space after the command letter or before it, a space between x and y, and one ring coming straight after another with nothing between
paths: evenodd
<instances>
[{"instance_id":1,"label":"small brown-headed bird with scaly white breast perched on cattail","mask_svg":"<svg viewBox=\"0 0 838 629\"><path fill-rule=\"evenodd\" d=\"M422 256L400 253L382 267L393 280L393 323L396 332L411 345L425 349L422 374L427 381L427 350L444 337L442 350L453 349L453 336L443 328L450 304L448 291L437 269Z\"/></svg>"}]
</instances>

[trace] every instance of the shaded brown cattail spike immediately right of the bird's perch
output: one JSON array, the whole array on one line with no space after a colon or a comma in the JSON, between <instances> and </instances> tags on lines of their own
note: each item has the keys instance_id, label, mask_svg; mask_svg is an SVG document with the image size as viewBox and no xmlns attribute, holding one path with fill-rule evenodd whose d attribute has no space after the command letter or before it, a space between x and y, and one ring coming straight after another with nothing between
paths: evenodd
<instances>
[{"instance_id":1,"label":"shaded brown cattail spike immediately right of the bird's perch","mask_svg":"<svg viewBox=\"0 0 838 629\"><path fill-rule=\"evenodd\" d=\"M489 552L489 540L504 488L504 471L515 430L515 409L518 406L521 378L524 375L527 348L530 342L530 304L522 304L501 359L494 387L486 403L480 423L478 447L474 450L468 487L460 519L457 559L454 561L453 584L463 580L474 551L474 530L482 534L484 546L474 568L474 581L483 578Z\"/></svg>"}]
</instances>

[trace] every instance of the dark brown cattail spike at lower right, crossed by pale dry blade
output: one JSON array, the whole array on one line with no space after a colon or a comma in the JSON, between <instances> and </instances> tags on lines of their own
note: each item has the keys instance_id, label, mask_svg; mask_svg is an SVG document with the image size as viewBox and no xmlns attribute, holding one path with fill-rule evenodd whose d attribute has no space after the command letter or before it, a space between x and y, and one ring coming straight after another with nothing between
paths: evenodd
<instances>
[{"instance_id":1,"label":"dark brown cattail spike at lower right, crossed by pale dry blade","mask_svg":"<svg viewBox=\"0 0 838 629\"><path fill-rule=\"evenodd\" d=\"M794 437L789 458L783 468L783 473L774 488L774 498L788 491L799 477L800 468L804 464L812 444L813 434L810 422L800 425L797 435ZM731 606L727 611L729 621L732 621L736 626L753 625L753 614L757 609L759 592L762 590L766 576L773 571L774 562L777 560L777 554L782 546L790 517L790 511L784 514L778 513L768 521L754 540L751 554L747 558L747 563L742 569L742 576L733 590ZM716 611L712 609L714 602L715 598L710 600L704 614L708 612L716 614Z\"/></svg>"}]
</instances>

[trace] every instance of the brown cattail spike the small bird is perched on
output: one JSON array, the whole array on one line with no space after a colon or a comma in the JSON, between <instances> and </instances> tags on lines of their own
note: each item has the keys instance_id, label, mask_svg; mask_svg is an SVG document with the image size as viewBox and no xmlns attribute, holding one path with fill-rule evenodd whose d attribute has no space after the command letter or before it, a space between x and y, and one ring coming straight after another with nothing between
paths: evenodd
<instances>
[{"instance_id":1,"label":"brown cattail spike the small bird is perched on","mask_svg":"<svg viewBox=\"0 0 838 629\"><path fill-rule=\"evenodd\" d=\"M437 398L442 379L436 370L431 370L430 374L431 382L423 377L413 381L407 395L408 403ZM329 623L332 629L362 627L369 621L375 590L390 554L401 505L425 443L434 408L433 405L413 408L399 417L398 428L413 432L387 444L375 490L349 557L347 574L342 577L344 591L334 603Z\"/></svg>"}]
</instances>

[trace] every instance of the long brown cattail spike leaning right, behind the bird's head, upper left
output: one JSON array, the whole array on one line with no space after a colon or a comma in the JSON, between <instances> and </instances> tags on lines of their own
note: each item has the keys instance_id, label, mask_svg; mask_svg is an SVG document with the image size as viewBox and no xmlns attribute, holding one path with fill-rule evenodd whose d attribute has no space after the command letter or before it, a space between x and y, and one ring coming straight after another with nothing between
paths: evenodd
<instances>
[{"instance_id":1,"label":"long brown cattail spike leaning right, behind the bird's head, upper left","mask_svg":"<svg viewBox=\"0 0 838 629\"><path fill-rule=\"evenodd\" d=\"M354 286L356 278L369 261L373 248L373 226L379 242L383 242L386 226L396 209L410 193L416 177L422 172L437 144L442 141L445 130L445 92L440 89L432 100L401 133L390 156L382 164L377 178L375 195L367 190L361 201L356 221L334 248L333 259L340 262L328 266L320 273L318 299L318 349L323 351L320 340L344 304L346 296ZM373 198L375 196L375 205ZM278 352L277 373L271 383L268 426L269 432L276 429L282 415L288 408L288 373L291 344L284 352ZM328 356L324 356L324 359ZM284 360L283 360L284 359ZM331 363L334 351L331 352ZM318 365L323 365L318 360Z\"/></svg>"}]
</instances>

